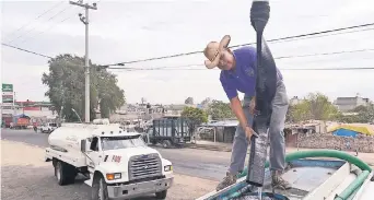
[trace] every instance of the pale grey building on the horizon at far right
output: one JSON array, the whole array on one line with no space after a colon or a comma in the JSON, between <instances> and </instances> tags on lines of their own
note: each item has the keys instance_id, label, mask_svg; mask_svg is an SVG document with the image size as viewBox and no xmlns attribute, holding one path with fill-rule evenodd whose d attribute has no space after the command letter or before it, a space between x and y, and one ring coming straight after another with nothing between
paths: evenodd
<instances>
[{"instance_id":1,"label":"pale grey building on the horizon at far right","mask_svg":"<svg viewBox=\"0 0 374 200\"><path fill-rule=\"evenodd\" d=\"M358 106L369 106L371 101L369 98L363 98L360 96L355 97L338 97L334 104L338 107L340 111L347 113L354 109Z\"/></svg>"}]
</instances>

